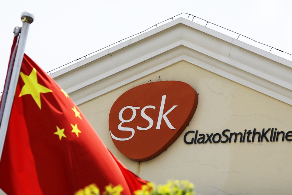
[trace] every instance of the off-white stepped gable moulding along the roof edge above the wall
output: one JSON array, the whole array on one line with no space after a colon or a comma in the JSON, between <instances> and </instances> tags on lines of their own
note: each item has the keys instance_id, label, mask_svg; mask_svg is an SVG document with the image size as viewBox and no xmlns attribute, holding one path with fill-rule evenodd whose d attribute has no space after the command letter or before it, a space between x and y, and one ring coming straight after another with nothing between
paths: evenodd
<instances>
[{"instance_id":1,"label":"off-white stepped gable moulding along the roof edge above the wall","mask_svg":"<svg viewBox=\"0 0 292 195\"><path fill-rule=\"evenodd\" d=\"M178 18L51 74L82 104L187 61L292 105L292 62Z\"/></svg>"}]
</instances>

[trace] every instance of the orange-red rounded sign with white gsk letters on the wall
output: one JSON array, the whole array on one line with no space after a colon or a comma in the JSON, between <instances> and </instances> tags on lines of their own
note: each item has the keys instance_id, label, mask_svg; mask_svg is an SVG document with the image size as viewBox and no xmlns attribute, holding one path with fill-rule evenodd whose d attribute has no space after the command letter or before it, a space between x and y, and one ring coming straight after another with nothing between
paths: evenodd
<instances>
[{"instance_id":1,"label":"orange-red rounded sign with white gsk letters on the wall","mask_svg":"<svg viewBox=\"0 0 292 195\"><path fill-rule=\"evenodd\" d=\"M112 141L133 161L148 161L180 136L197 104L197 92L184 82L159 81L134 87L110 110Z\"/></svg>"}]
</instances>

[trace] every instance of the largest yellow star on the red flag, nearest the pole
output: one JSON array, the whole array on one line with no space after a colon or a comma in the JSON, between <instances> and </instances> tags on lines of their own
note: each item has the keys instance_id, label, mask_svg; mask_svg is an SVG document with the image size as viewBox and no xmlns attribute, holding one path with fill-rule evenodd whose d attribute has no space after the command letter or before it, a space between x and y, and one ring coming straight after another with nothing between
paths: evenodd
<instances>
[{"instance_id":1,"label":"largest yellow star on the red flag, nearest the pole","mask_svg":"<svg viewBox=\"0 0 292 195\"><path fill-rule=\"evenodd\" d=\"M37 82L36 77L36 69L33 68L32 72L27 76L24 73L20 72L20 76L25 83L24 86L21 89L21 92L18 97L24 96L24 95L31 95L36 104L39 106L39 109L41 109L41 95L40 93L48 93L53 92L51 89L48 89L42 85L40 85Z\"/></svg>"}]
</instances>

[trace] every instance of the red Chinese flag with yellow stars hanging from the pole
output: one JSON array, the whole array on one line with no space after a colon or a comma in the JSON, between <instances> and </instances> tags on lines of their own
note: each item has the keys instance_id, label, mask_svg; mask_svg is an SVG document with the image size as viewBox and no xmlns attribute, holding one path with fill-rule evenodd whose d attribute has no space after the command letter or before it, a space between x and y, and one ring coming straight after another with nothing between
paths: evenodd
<instances>
[{"instance_id":1,"label":"red Chinese flag with yellow stars hanging from the pole","mask_svg":"<svg viewBox=\"0 0 292 195\"><path fill-rule=\"evenodd\" d=\"M7 194L74 194L95 183L133 194L145 180L105 147L64 90L24 55L0 163Z\"/></svg>"}]
</instances>

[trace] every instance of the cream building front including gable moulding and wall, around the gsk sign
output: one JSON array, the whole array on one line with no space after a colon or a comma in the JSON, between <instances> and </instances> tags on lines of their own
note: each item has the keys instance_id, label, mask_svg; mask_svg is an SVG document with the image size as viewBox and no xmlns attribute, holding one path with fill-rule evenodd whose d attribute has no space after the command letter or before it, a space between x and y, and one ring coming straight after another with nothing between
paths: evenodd
<instances>
[{"instance_id":1,"label":"cream building front including gable moulding and wall, around the gsk sign","mask_svg":"<svg viewBox=\"0 0 292 195\"><path fill-rule=\"evenodd\" d=\"M225 195L291 194L291 75L291 61L178 18L51 76L129 170ZM110 110L128 90L161 81L189 84L197 109L164 152L133 161L113 143Z\"/></svg>"}]
</instances>

